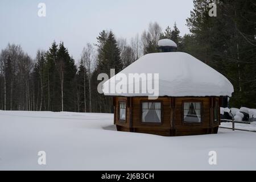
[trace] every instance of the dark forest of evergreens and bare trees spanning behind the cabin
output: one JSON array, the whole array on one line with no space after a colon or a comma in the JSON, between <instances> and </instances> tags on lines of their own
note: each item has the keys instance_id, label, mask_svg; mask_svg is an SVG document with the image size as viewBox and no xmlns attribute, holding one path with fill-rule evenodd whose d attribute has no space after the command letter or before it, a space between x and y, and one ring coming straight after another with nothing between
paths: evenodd
<instances>
[{"instance_id":1,"label":"dark forest of evergreens and bare trees spanning behind the cabin","mask_svg":"<svg viewBox=\"0 0 256 182\"><path fill-rule=\"evenodd\" d=\"M210 17L209 3L217 5ZM112 98L98 93L100 73L118 73L147 53L158 52L159 39L171 39L178 51L204 61L234 85L230 106L256 107L256 22L253 1L194 0L187 19L190 33L177 24L164 31L157 22L127 42L102 30L96 44L87 43L79 64L63 42L38 50L32 59L15 44L0 53L0 109L111 113Z\"/></svg>"}]
</instances>

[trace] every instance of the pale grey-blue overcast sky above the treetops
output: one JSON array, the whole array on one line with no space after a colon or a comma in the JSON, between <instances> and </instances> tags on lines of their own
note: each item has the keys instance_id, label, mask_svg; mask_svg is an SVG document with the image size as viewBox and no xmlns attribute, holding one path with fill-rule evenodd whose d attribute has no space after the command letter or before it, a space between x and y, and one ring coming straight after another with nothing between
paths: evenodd
<instances>
[{"instance_id":1,"label":"pale grey-blue overcast sky above the treetops","mask_svg":"<svg viewBox=\"0 0 256 182\"><path fill-rule=\"evenodd\" d=\"M39 3L46 4L46 17L38 16ZM20 44L34 58L37 49L63 41L77 61L85 44L96 43L102 30L112 30L129 42L150 22L164 30L176 21L184 35L192 8L192 0L0 0L0 49Z\"/></svg>"}]
</instances>

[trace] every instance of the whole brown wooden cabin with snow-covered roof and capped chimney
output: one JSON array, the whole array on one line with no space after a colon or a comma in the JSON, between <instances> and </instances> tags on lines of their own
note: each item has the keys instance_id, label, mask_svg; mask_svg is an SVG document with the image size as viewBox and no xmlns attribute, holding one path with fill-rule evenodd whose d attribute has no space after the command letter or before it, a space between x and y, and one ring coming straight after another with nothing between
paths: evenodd
<instances>
[{"instance_id":1,"label":"whole brown wooden cabin with snow-covered roof and capped chimney","mask_svg":"<svg viewBox=\"0 0 256 182\"><path fill-rule=\"evenodd\" d=\"M172 48L167 48L168 42ZM113 96L117 130L163 136L217 134L221 101L232 95L232 84L195 57L170 52L174 44L169 40L161 46L168 52L142 56L105 82L104 94ZM154 86L159 97L152 100L148 93L108 92L110 85L117 85L118 75L129 73L158 73L158 85ZM146 81L141 79L140 84Z\"/></svg>"}]
</instances>

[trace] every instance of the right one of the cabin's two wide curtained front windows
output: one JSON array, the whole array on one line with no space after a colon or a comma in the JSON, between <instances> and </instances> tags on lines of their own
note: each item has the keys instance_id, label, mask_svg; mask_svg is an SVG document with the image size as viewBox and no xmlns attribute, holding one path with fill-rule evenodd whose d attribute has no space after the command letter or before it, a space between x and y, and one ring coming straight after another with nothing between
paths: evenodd
<instances>
[{"instance_id":1,"label":"right one of the cabin's two wide curtained front windows","mask_svg":"<svg viewBox=\"0 0 256 182\"><path fill-rule=\"evenodd\" d=\"M201 122L201 102L184 102L183 110L185 123Z\"/></svg>"}]
</instances>

